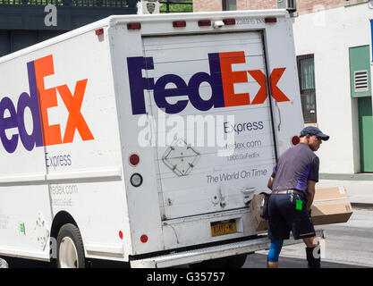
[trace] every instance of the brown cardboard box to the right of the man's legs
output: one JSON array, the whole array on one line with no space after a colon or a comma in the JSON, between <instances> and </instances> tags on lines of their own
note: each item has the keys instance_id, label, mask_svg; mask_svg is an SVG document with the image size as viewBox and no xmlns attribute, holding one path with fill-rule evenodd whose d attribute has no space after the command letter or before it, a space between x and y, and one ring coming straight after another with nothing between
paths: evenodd
<instances>
[{"instance_id":1,"label":"brown cardboard box to the right of the man's legs","mask_svg":"<svg viewBox=\"0 0 373 286\"><path fill-rule=\"evenodd\" d=\"M352 215L352 206L344 187L316 189L311 206L314 225L346 223Z\"/></svg>"}]
</instances>

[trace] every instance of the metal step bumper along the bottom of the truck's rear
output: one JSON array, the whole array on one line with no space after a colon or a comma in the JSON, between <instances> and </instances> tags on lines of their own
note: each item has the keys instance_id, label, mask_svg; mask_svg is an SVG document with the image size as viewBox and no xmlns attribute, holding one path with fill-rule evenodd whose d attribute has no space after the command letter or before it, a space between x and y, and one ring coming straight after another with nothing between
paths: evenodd
<instances>
[{"instance_id":1,"label":"metal step bumper along the bottom of the truck's rear","mask_svg":"<svg viewBox=\"0 0 373 286\"><path fill-rule=\"evenodd\" d=\"M324 239L324 230L317 230L316 235ZM284 240L284 246L301 243L302 240ZM132 260L132 268L165 268L175 265L188 265L201 262L204 260L215 259L220 257L230 257L244 253L268 249L270 240L262 237L255 240L246 240L219 245L209 248L199 248L178 253L171 253L158 257L148 257L139 260Z\"/></svg>"}]
</instances>

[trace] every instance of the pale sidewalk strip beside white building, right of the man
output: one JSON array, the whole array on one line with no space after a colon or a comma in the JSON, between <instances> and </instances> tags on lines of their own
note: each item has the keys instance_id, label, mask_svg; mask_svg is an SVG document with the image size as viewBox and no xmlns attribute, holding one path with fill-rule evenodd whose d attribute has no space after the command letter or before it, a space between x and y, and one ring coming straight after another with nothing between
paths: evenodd
<instances>
[{"instance_id":1,"label":"pale sidewalk strip beside white building, right of the man","mask_svg":"<svg viewBox=\"0 0 373 286\"><path fill-rule=\"evenodd\" d=\"M352 206L373 207L373 181L319 180L316 189L345 187Z\"/></svg>"}]
</instances>

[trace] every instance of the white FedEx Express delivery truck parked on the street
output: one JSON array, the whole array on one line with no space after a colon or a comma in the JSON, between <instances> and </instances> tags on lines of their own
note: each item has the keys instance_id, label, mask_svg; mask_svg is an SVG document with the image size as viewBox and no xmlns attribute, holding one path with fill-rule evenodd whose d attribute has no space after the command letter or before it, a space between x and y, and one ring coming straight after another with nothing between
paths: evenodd
<instances>
[{"instance_id":1,"label":"white FedEx Express delivery truck parked on the street","mask_svg":"<svg viewBox=\"0 0 373 286\"><path fill-rule=\"evenodd\" d=\"M0 75L0 256L240 266L267 248L248 203L303 127L286 11L111 16Z\"/></svg>"}]
</instances>

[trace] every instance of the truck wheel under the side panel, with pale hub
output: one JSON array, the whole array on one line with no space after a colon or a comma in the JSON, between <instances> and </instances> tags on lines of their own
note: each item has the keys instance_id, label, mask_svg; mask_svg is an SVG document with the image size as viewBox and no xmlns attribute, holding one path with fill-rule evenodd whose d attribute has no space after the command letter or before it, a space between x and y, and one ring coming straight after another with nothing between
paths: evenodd
<instances>
[{"instance_id":1,"label":"truck wheel under the side panel, with pale hub","mask_svg":"<svg viewBox=\"0 0 373 286\"><path fill-rule=\"evenodd\" d=\"M66 223L57 236L57 267L85 268L81 231L72 223Z\"/></svg>"}]
</instances>

